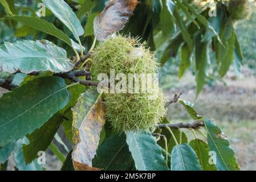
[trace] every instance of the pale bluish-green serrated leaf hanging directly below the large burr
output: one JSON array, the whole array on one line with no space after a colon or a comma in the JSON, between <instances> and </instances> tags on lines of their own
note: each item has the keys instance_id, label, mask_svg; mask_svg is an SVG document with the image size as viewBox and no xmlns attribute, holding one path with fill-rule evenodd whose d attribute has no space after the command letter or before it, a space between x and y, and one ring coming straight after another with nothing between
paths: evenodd
<instances>
[{"instance_id":1,"label":"pale bluish-green serrated leaf hanging directly below the large burr","mask_svg":"<svg viewBox=\"0 0 256 182\"><path fill-rule=\"evenodd\" d=\"M161 147L155 138L146 131L128 132L127 143L135 166L139 171L168 171Z\"/></svg>"}]
</instances>

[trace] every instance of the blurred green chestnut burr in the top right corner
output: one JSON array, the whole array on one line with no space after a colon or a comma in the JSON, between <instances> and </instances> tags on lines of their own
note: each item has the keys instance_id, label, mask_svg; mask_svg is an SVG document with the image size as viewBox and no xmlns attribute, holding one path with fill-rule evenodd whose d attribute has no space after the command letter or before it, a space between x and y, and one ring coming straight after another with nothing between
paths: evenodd
<instances>
[{"instance_id":1,"label":"blurred green chestnut burr in the top right corner","mask_svg":"<svg viewBox=\"0 0 256 182\"><path fill-rule=\"evenodd\" d=\"M233 20L245 19L250 14L250 5L247 0L229 0L227 11Z\"/></svg>"}]
</instances>

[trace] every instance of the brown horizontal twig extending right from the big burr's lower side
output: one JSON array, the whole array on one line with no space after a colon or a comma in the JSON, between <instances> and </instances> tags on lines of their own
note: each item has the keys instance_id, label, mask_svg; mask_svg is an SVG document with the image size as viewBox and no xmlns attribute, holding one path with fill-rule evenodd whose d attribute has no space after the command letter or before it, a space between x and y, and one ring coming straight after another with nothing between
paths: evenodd
<instances>
[{"instance_id":1,"label":"brown horizontal twig extending right from the big burr's lower side","mask_svg":"<svg viewBox=\"0 0 256 182\"><path fill-rule=\"evenodd\" d=\"M192 123L159 124L157 127L159 129L164 129L165 127L169 127L170 129L197 129L203 126L205 126L204 122L196 121Z\"/></svg>"}]
</instances>

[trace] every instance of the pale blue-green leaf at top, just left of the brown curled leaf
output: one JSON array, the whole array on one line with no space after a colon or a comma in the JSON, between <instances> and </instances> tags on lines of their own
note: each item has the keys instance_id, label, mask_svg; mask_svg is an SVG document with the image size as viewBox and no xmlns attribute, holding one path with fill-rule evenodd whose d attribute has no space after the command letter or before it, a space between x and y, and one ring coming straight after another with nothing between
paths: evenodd
<instances>
[{"instance_id":1,"label":"pale blue-green leaf at top, just left of the brown curled leaf","mask_svg":"<svg viewBox=\"0 0 256 182\"><path fill-rule=\"evenodd\" d=\"M79 36L84 34L84 29L72 11L63 0L42 0L44 5L73 33L76 40L80 42Z\"/></svg>"}]
</instances>

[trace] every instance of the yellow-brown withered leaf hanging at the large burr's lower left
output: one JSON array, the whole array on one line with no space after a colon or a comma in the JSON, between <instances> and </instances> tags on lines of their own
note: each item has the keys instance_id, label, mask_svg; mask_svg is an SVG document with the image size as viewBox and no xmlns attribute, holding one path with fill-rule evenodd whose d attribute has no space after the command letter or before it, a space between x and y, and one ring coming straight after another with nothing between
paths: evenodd
<instances>
[{"instance_id":1,"label":"yellow-brown withered leaf hanging at the large burr's lower left","mask_svg":"<svg viewBox=\"0 0 256 182\"><path fill-rule=\"evenodd\" d=\"M99 171L92 167L100 140L100 132L105 124L105 110L101 94L96 89L81 94L73 107L73 152L76 170Z\"/></svg>"}]
</instances>

